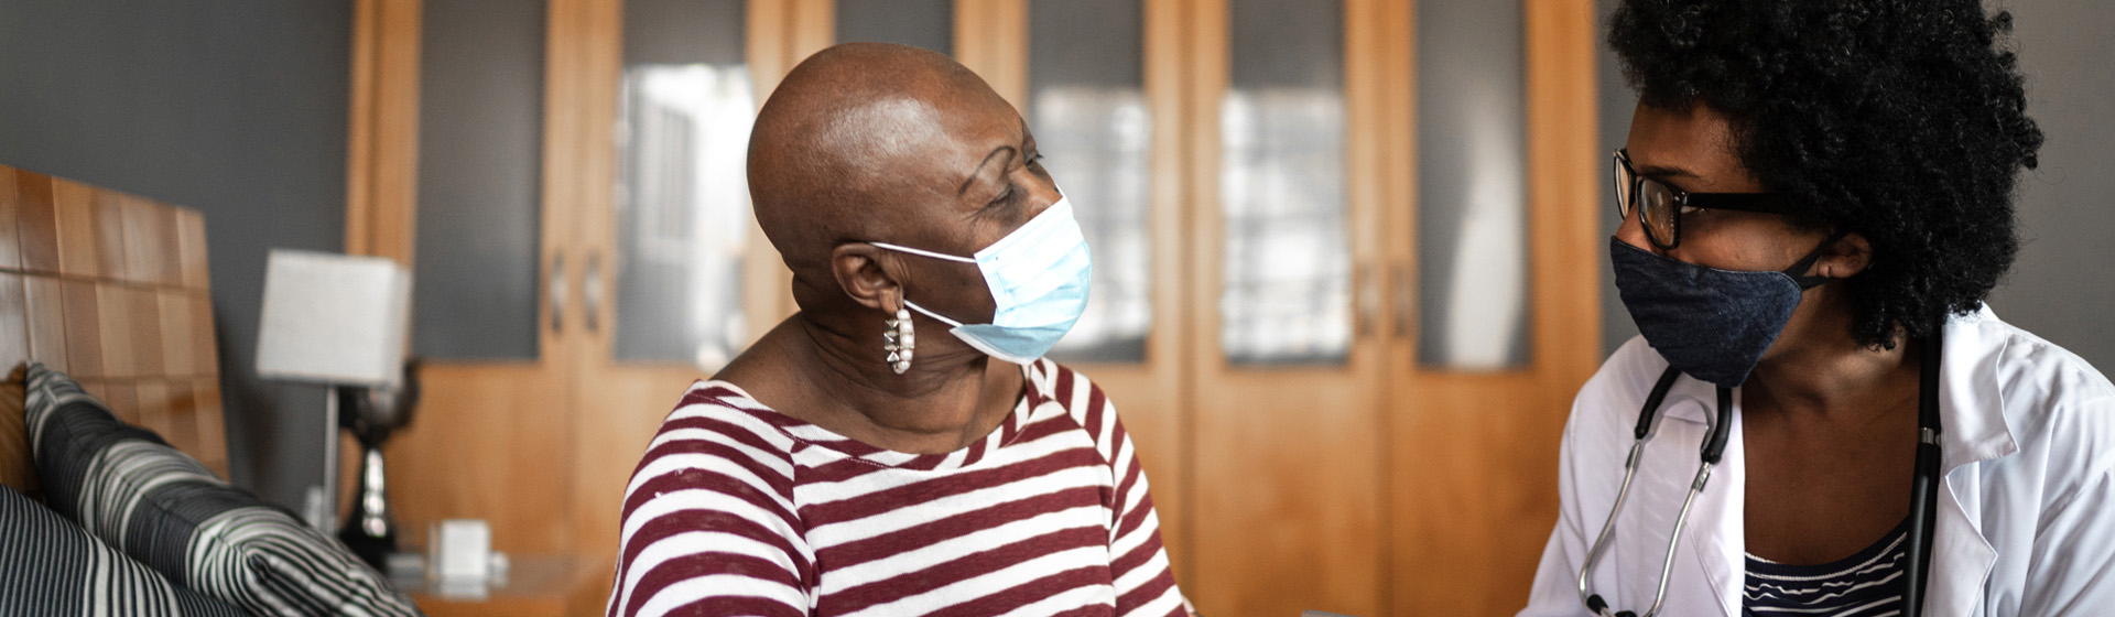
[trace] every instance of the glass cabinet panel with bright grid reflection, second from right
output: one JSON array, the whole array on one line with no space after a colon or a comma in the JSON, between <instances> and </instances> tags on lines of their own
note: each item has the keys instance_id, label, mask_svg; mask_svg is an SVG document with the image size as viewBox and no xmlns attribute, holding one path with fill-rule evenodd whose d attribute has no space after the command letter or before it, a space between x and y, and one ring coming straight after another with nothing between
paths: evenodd
<instances>
[{"instance_id":1,"label":"glass cabinet panel with bright grid reflection, second from right","mask_svg":"<svg viewBox=\"0 0 2115 617\"><path fill-rule=\"evenodd\" d=\"M1229 8L1220 349L1233 363L1341 363L1351 349L1341 4Z\"/></svg>"}]
</instances>

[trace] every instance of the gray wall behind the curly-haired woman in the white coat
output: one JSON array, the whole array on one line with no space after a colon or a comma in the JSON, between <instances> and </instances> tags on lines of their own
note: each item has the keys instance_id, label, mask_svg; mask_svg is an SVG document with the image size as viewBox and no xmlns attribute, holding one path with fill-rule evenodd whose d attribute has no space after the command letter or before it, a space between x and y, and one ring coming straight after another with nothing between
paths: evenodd
<instances>
[{"instance_id":1,"label":"gray wall behind the curly-haired woman in the white coat","mask_svg":"<svg viewBox=\"0 0 2115 617\"><path fill-rule=\"evenodd\" d=\"M1603 15L1616 2L1599 0ZM1986 6L1992 6L1986 2ZM2020 182L2020 260L1990 296L2013 325L2115 370L2115 2L2007 0L2026 112L2047 135L2041 169ZM1597 36L1599 40L1601 36ZM1601 49L1601 142L1631 131L1637 97L1616 57ZM1616 232L1614 197L1603 190L1603 226ZM1601 332L1607 351L1637 336L1601 256Z\"/></svg>"}]
</instances>

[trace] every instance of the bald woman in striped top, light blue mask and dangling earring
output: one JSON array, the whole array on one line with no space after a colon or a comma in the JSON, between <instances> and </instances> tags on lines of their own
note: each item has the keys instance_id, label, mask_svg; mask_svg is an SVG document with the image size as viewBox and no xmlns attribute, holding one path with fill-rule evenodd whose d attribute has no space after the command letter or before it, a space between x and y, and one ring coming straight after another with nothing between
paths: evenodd
<instances>
[{"instance_id":1,"label":"bald woman in striped top, light blue mask and dangling earring","mask_svg":"<svg viewBox=\"0 0 2115 617\"><path fill-rule=\"evenodd\" d=\"M799 313L662 423L609 615L1184 615L1132 440L1041 359L1087 245L1019 114L952 59L840 44L757 114Z\"/></svg>"}]
</instances>

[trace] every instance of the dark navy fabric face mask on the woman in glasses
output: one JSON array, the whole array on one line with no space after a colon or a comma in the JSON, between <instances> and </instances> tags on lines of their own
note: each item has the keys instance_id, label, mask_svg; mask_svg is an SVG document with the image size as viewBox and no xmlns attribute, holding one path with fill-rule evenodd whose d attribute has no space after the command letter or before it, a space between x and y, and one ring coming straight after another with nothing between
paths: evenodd
<instances>
[{"instance_id":1,"label":"dark navy fabric face mask on the woman in glasses","mask_svg":"<svg viewBox=\"0 0 2115 617\"><path fill-rule=\"evenodd\" d=\"M1730 389L1745 382L1777 342L1791 308L1800 306L1800 292L1829 281L1802 275L1838 239L1842 232L1783 273L1707 268L1618 239L1607 241L1607 258L1622 306L1631 308L1645 342L1688 376Z\"/></svg>"}]
</instances>

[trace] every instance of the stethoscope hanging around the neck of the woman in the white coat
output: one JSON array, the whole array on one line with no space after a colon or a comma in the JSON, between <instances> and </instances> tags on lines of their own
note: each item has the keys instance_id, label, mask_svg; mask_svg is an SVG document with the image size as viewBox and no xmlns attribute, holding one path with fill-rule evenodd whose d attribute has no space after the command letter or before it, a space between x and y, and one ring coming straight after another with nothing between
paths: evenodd
<instances>
[{"instance_id":1,"label":"stethoscope hanging around the neck of the woman in the white coat","mask_svg":"<svg viewBox=\"0 0 2115 617\"><path fill-rule=\"evenodd\" d=\"M1916 475L1910 484L1910 543L1908 564L1904 566L1904 579L1910 587L1901 596L1901 606L1908 609L1904 615L1925 613L1925 590L1931 585L1927 573L1931 571L1931 535L1937 516L1937 484L1939 484L1939 332L1925 338L1923 357L1918 359L1918 393L1916 393ZM1622 461L1622 488L1616 490L1616 507L1610 507L1607 522L1601 524L1601 535L1595 537L1593 547L1586 551L1586 562L1580 566L1580 602L1586 602L1586 611L1601 617L1637 617L1637 613L1620 611L1610 613L1607 600L1601 594L1586 590L1586 579L1593 577L1593 566L1601 560L1601 551L1607 549L1607 539L1616 530L1616 513L1622 511L1622 501L1631 497L1631 478L1637 475L1637 463L1645 454L1645 440L1652 435L1652 420L1660 412L1660 404L1667 401L1667 391L1675 387L1681 370L1667 368L1660 372L1660 380L1652 385L1652 393L1645 397L1645 408L1637 414L1637 429L1633 431L1635 442L1631 442L1631 456ZM1719 463L1719 454L1726 454L1726 437L1732 433L1732 389L1717 389L1717 420L1711 423L1711 431L1705 433L1703 444L1703 465L1696 467L1696 478L1690 480L1690 494L1681 499L1681 513L1675 516L1675 532L1667 541L1667 558L1660 560L1660 587L1652 594L1652 611L1645 617L1660 613L1660 602L1667 600L1667 577L1673 573L1675 545L1681 543L1681 524L1690 520L1690 505L1696 503L1696 494L1705 490L1705 482L1711 482L1711 467Z\"/></svg>"}]
</instances>

